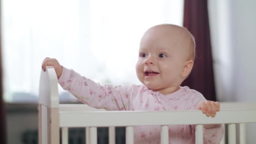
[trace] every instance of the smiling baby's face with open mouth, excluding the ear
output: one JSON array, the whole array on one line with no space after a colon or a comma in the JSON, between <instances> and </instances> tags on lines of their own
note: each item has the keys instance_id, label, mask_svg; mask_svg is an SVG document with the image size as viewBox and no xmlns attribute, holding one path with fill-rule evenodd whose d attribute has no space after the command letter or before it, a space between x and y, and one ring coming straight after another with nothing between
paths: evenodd
<instances>
[{"instance_id":1,"label":"smiling baby's face with open mouth, excluding the ear","mask_svg":"<svg viewBox=\"0 0 256 144\"><path fill-rule=\"evenodd\" d=\"M168 93L165 91L168 88L179 87L188 57L183 36L176 28L153 27L145 32L136 64L141 83L163 94Z\"/></svg>"}]
</instances>

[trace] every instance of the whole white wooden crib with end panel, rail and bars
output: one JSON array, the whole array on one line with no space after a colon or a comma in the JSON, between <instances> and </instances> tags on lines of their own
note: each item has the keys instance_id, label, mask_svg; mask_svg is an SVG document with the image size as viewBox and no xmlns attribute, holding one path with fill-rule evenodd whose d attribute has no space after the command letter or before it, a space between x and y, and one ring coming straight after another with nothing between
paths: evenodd
<instances>
[{"instance_id":1,"label":"whole white wooden crib with end panel, rail and bars","mask_svg":"<svg viewBox=\"0 0 256 144\"><path fill-rule=\"evenodd\" d=\"M125 142L133 144L134 125L161 125L161 144L168 144L168 125L186 124L196 125L196 144L203 144L203 124L214 123L228 125L229 144L236 144L236 124L239 124L240 144L245 144L245 123L256 123L256 103L253 102L221 103L221 111L214 118L206 117L199 110L104 111L85 104L59 104L56 73L49 66L46 72L41 72L38 111L39 144L59 144L59 128L62 144L68 144L70 127L86 128L86 144L97 144L97 127L109 127L109 144L115 144L115 126L125 126ZM136 121L130 117L136 117ZM221 144L224 143L222 139Z\"/></svg>"}]
</instances>

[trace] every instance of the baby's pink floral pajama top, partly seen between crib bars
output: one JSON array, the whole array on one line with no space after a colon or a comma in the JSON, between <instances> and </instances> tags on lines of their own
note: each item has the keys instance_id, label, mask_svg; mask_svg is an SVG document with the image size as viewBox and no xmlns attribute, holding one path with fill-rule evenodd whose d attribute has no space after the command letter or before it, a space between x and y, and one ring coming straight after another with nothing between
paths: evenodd
<instances>
[{"instance_id":1,"label":"baby's pink floral pajama top, partly seen between crib bars","mask_svg":"<svg viewBox=\"0 0 256 144\"><path fill-rule=\"evenodd\" d=\"M82 77L72 69L63 67L59 84L77 99L94 108L107 110L190 110L205 101L203 95L188 87L163 95L144 85L101 86ZM131 118L136 120L136 117ZM169 144L195 144L195 125L169 125ZM160 144L160 125L135 126L135 144ZM223 127L204 128L204 144L219 144Z\"/></svg>"}]
</instances>

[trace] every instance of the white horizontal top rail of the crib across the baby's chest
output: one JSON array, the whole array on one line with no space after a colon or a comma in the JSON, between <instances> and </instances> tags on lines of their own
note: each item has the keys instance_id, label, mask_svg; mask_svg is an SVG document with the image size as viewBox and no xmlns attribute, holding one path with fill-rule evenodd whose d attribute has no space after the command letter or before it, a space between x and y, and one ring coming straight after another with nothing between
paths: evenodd
<instances>
[{"instance_id":1,"label":"white horizontal top rail of the crib across the baby's chest","mask_svg":"<svg viewBox=\"0 0 256 144\"><path fill-rule=\"evenodd\" d=\"M215 123L255 123L254 110L222 110L216 117L206 117L194 111L105 111L60 112L61 127L104 127L133 125L198 125ZM239 117L237 117L239 115ZM188 120L189 118L189 120Z\"/></svg>"}]
</instances>

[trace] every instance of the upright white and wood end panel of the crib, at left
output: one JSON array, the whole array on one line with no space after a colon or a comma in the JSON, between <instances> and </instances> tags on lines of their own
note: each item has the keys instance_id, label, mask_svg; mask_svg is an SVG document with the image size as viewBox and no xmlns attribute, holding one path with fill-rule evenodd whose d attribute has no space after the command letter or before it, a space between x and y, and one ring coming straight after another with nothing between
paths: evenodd
<instances>
[{"instance_id":1,"label":"upright white and wood end panel of the crib, at left","mask_svg":"<svg viewBox=\"0 0 256 144\"><path fill-rule=\"evenodd\" d=\"M39 144L59 144L59 92L55 70L41 71L38 104Z\"/></svg>"}]
</instances>

